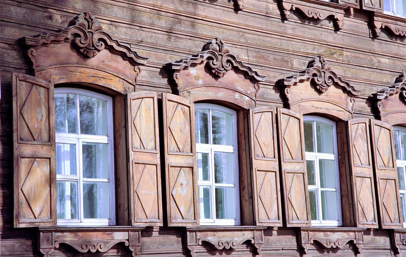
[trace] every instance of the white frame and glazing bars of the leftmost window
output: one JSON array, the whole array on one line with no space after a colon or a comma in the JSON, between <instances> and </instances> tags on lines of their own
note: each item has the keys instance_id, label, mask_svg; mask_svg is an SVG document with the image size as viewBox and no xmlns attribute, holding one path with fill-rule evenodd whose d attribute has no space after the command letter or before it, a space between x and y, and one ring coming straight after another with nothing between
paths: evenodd
<instances>
[{"instance_id":1,"label":"white frame and glazing bars of the leftmost window","mask_svg":"<svg viewBox=\"0 0 406 257\"><path fill-rule=\"evenodd\" d=\"M115 217L115 186L114 186L114 140L113 140L113 107L112 97L102 95L93 91L76 88L55 88L54 94L76 94L76 126L78 134L55 133L56 143L74 144L76 147L76 175L56 175L56 181L76 181L78 182L78 219L57 219L58 226L111 226L116 224ZM80 134L80 110L78 95L86 95L107 102L107 136ZM57 114L56 114L57 115ZM84 179L82 167L82 143L105 143L108 145L108 174L109 179ZM83 182L109 182L110 195L110 218L84 218L83 206ZM69 201L67 201L69 202ZM70 213L70 204L66 206L66 212Z\"/></svg>"}]
</instances>

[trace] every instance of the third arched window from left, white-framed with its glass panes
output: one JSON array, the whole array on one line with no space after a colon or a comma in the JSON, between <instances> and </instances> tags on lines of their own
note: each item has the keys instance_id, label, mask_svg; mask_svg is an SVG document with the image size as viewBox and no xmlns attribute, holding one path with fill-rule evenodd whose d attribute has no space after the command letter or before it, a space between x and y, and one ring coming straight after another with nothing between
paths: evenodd
<instances>
[{"instance_id":1,"label":"third arched window from left, white-framed with its glass panes","mask_svg":"<svg viewBox=\"0 0 406 257\"><path fill-rule=\"evenodd\" d=\"M336 124L317 116L304 116L303 120L311 224L340 226Z\"/></svg>"}]
</instances>

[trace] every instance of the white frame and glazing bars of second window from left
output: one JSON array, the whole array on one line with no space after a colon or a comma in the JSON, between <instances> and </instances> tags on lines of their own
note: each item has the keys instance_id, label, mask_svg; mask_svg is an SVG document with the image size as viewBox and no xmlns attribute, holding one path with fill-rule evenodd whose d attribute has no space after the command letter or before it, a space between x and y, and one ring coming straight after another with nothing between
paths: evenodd
<instances>
[{"instance_id":1,"label":"white frame and glazing bars of second window from left","mask_svg":"<svg viewBox=\"0 0 406 257\"><path fill-rule=\"evenodd\" d=\"M211 215L212 219L205 219L200 218L200 225L201 226L233 226L233 225L240 225L240 188L239 188L239 179L238 179L238 151L237 151L237 112L231 110L229 108L219 106L216 104L194 104L194 109L209 109L209 144L196 144L196 152L197 153L208 153L209 154L209 177L210 181L201 181L198 180L198 186L211 186L212 190L210 192L210 206L211 206ZM213 145L212 143L212 110L219 110L221 112L225 112L227 114L232 115L232 123L233 127L231 131L233 133L233 145ZM234 157L234 184L218 184L214 183L214 152L225 152L225 153L233 153ZM198 171L199 172L199 171ZM215 206L215 187L234 187L234 201L235 201L235 219L216 219L216 206ZM199 209L200 209L200 216L203 217L203 198L200 198L201 195L201 188L199 187Z\"/></svg>"}]
</instances>

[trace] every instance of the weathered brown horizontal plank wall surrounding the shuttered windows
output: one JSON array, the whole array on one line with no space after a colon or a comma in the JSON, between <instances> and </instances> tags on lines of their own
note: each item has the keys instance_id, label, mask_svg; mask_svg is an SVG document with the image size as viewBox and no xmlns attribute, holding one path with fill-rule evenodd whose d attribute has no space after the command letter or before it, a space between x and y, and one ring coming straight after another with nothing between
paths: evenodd
<instances>
[{"instance_id":1,"label":"weathered brown horizontal plank wall surrounding the shuttered windows","mask_svg":"<svg viewBox=\"0 0 406 257\"><path fill-rule=\"evenodd\" d=\"M24 50L18 45L20 37L65 28L77 14L91 11L114 39L149 57L138 78L138 89L159 92L171 92L163 69L166 63L200 52L207 40L222 37L235 56L266 75L259 83L258 104L274 106L282 106L276 80L302 71L311 58L324 55L339 76L362 90L354 105L356 117L373 118L371 94L391 86L406 67L406 52L401 51L406 41L384 31L373 39L368 13L356 9L347 11L343 28L337 32L328 19L313 22L296 12L282 22L277 1L271 0L244 0L244 9L238 13L230 0L0 0L0 6L1 256L39 256L37 230L13 229L11 72L29 73ZM141 235L142 255L186 253L179 228L148 228ZM266 229L263 256L299 255L296 238L295 229ZM347 246L339 253L353 254ZM248 246L244 247L233 255L250 255ZM218 254L203 247L197 254L201 251ZM73 249L61 246L54 254L69 252ZM128 254L117 245L104 256ZM388 231L364 232L363 256L369 255L393 255Z\"/></svg>"}]
</instances>

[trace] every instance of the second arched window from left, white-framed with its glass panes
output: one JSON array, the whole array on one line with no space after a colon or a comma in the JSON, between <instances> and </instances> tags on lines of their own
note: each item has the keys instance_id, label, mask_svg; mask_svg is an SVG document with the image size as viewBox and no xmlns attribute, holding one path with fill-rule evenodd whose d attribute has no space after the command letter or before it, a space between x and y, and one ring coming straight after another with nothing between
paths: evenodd
<instances>
[{"instance_id":1,"label":"second arched window from left, white-framed with its glass panes","mask_svg":"<svg viewBox=\"0 0 406 257\"><path fill-rule=\"evenodd\" d=\"M195 104L200 225L240 225L237 114Z\"/></svg>"}]
</instances>

